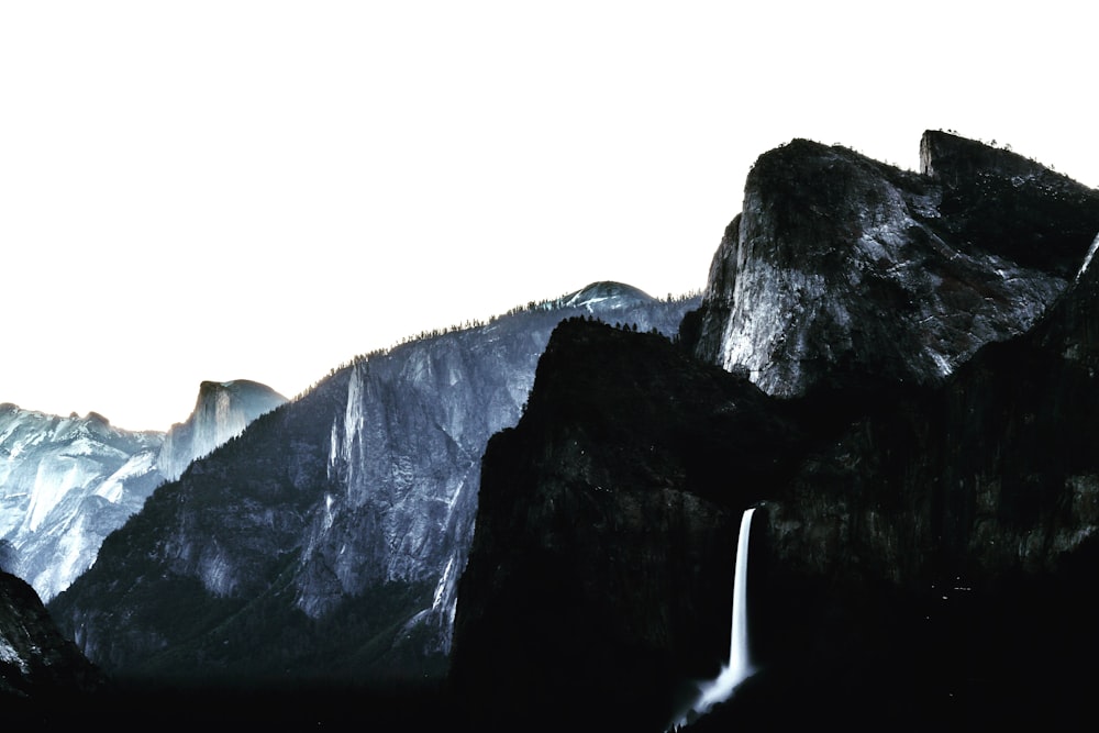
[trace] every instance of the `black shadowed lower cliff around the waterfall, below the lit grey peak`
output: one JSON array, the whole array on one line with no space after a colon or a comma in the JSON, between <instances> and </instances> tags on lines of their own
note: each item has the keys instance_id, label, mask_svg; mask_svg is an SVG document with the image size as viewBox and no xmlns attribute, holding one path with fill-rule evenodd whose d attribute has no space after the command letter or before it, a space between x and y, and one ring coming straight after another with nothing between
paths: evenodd
<instances>
[{"instance_id":1,"label":"black shadowed lower cliff around the waterfall, below the lit grey peak","mask_svg":"<svg viewBox=\"0 0 1099 733\"><path fill-rule=\"evenodd\" d=\"M563 325L486 453L456 693L497 729L657 730L723 660L735 524L758 504L762 671L699 730L1078 724L1099 681L1099 388L1047 345L1059 323L843 410Z\"/></svg>"}]
</instances>

